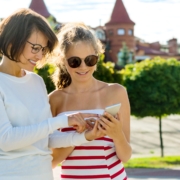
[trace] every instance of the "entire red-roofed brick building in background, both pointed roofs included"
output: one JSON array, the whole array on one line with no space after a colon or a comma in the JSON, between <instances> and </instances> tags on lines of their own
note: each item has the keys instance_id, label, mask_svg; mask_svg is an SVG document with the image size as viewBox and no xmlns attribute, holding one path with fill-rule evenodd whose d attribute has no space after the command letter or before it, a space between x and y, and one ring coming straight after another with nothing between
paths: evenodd
<instances>
[{"instance_id":1,"label":"entire red-roofed brick building in background, both pointed roofs included","mask_svg":"<svg viewBox=\"0 0 180 180\"><path fill-rule=\"evenodd\" d=\"M31 0L29 8L47 18L54 30L58 30L64 23L63 18L61 22L56 21L43 0ZM158 41L149 43L136 37L134 29L135 22L129 17L123 0L116 0L110 20L104 26L92 28L106 47L105 61L118 64L123 45L126 45L130 52L129 62L151 59L155 56L180 60L180 44L176 38L168 40L167 44L160 44Z\"/></svg>"}]
</instances>

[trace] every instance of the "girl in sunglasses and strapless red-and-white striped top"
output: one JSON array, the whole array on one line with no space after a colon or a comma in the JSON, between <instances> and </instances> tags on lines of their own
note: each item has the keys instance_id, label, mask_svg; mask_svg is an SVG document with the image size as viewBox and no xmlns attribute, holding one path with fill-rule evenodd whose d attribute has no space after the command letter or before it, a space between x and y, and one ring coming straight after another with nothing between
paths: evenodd
<instances>
[{"instance_id":1,"label":"girl in sunglasses and strapless red-and-white striped top","mask_svg":"<svg viewBox=\"0 0 180 180\"><path fill-rule=\"evenodd\" d=\"M50 95L53 116L73 112L99 114L98 129L105 136L81 146L53 149L53 167L59 162L61 179L125 180L122 162L130 159L130 105L125 88L93 77L104 52L92 31L80 23L69 23L58 35L60 58L53 75L56 90ZM121 103L116 116L106 106ZM92 121L93 122L93 121ZM61 131L71 132L73 128Z\"/></svg>"}]
</instances>

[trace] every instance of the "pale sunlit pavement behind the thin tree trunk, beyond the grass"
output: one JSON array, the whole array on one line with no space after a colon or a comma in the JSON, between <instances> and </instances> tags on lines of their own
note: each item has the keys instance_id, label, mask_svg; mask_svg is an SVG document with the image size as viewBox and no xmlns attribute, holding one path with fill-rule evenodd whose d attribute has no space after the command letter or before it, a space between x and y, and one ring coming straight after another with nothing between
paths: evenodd
<instances>
[{"instance_id":1,"label":"pale sunlit pavement behind the thin tree trunk, beyond the grass","mask_svg":"<svg viewBox=\"0 0 180 180\"><path fill-rule=\"evenodd\" d=\"M162 119L164 155L180 155L180 116ZM160 156L159 120L131 117L131 145L133 157Z\"/></svg>"}]
</instances>

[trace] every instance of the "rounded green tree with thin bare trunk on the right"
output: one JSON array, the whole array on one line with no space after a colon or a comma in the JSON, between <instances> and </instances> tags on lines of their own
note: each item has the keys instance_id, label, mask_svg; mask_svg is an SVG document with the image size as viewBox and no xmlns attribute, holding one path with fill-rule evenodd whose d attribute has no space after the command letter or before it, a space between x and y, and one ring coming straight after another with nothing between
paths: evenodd
<instances>
[{"instance_id":1,"label":"rounded green tree with thin bare trunk on the right","mask_svg":"<svg viewBox=\"0 0 180 180\"><path fill-rule=\"evenodd\" d=\"M131 113L159 119L161 156L164 156L162 117L180 113L180 62L176 59L145 60L121 71Z\"/></svg>"}]
</instances>

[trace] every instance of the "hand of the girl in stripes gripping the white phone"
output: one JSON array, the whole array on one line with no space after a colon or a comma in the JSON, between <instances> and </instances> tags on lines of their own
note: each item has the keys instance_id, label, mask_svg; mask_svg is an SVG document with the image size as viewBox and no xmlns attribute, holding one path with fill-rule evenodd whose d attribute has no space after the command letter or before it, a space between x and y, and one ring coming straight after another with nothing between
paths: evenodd
<instances>
[{"instance_id":1,"label":"hand of the girl in stripes gripping the white phone","mask_svg":"<svg viewBox=\"0 0 180 180\"><path fill-rule=\"evenodd\" d=\"M98 128L107 136L112 139L116 139L122 133L122 122L120 120L119 113L116 117L105 112L102 116L99 117L99 126Z\"/></svg>"}]
</instances>

